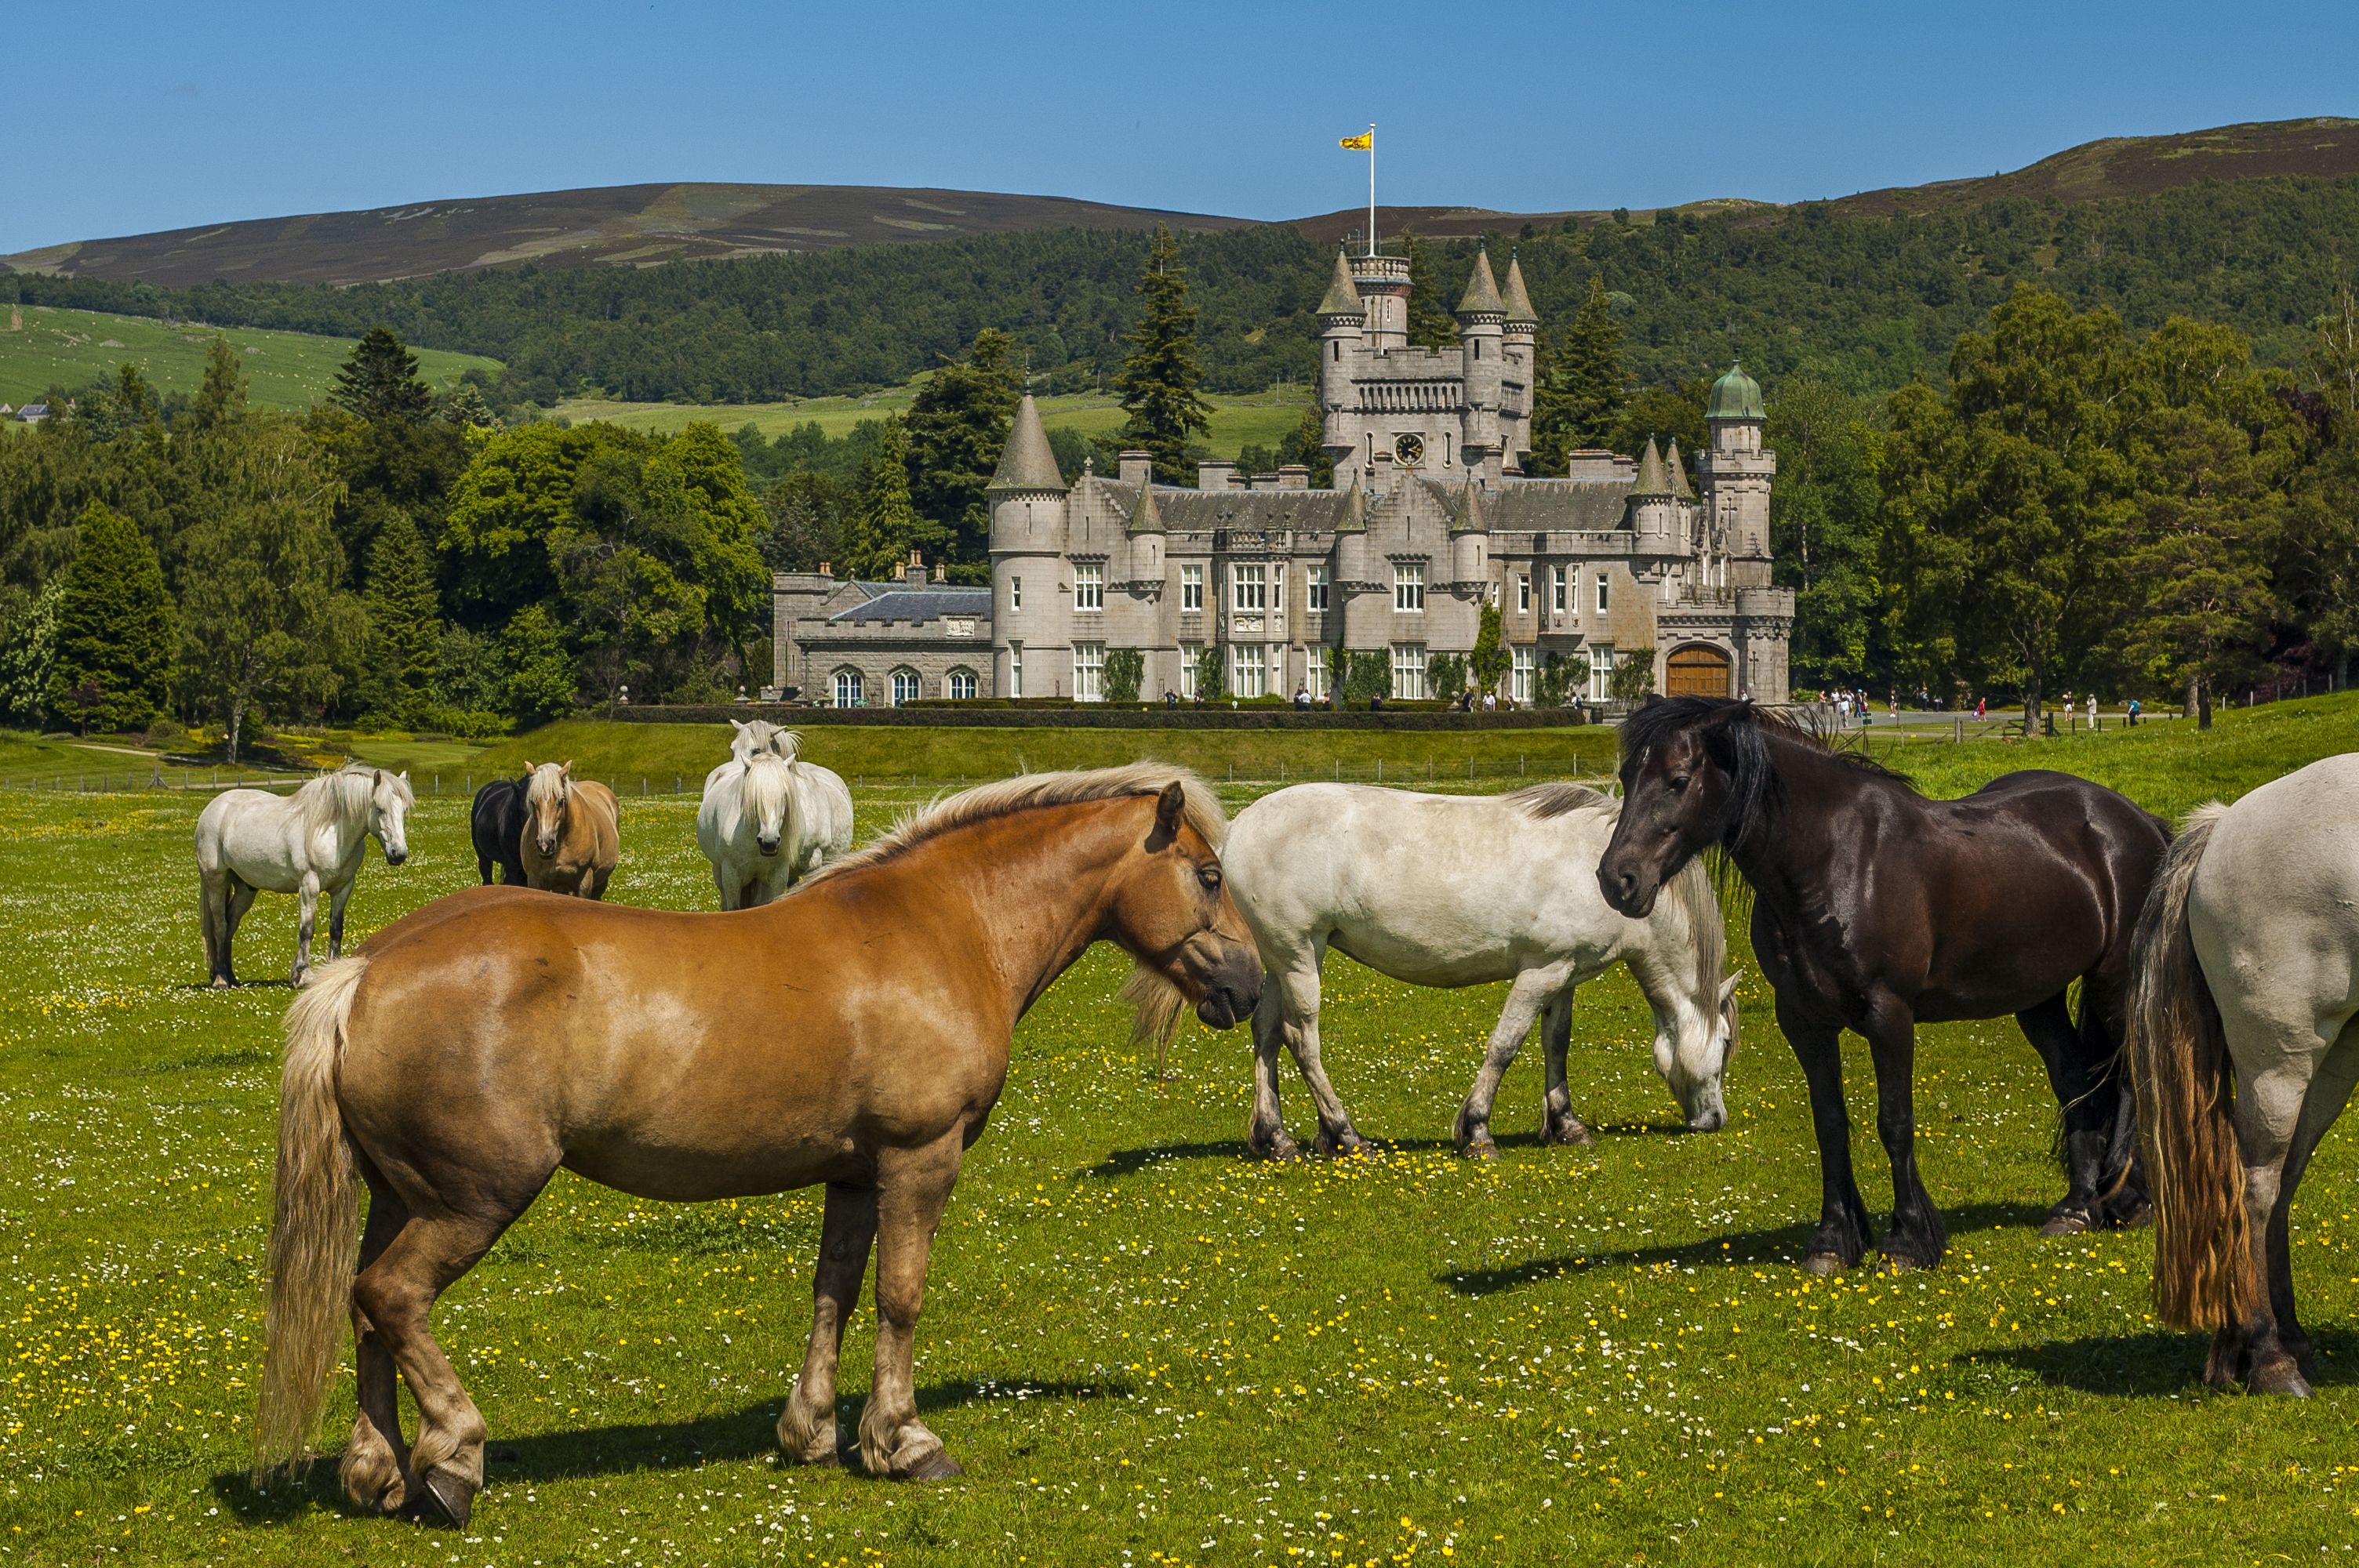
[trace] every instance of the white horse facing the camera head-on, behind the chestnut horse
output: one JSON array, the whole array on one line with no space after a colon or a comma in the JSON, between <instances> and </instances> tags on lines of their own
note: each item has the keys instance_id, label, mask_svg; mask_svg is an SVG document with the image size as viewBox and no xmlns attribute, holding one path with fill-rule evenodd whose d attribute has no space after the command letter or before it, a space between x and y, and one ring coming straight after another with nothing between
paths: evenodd
<instances>
[{"instance_id":1,"label":"white horse facing the camera head-on, behind the chestnut horse","mask_svg":"<svg viewBox=\"0 0 2359 1568\"><path fill-rule=\"evenodd\" d=\"M712 861L724 910L781 898L852 849L852 790L830 769L802 762L800 743L795 731L762 719L736 724L731 759L705 773L696 846Z\"/></svg>"}]
</instances>

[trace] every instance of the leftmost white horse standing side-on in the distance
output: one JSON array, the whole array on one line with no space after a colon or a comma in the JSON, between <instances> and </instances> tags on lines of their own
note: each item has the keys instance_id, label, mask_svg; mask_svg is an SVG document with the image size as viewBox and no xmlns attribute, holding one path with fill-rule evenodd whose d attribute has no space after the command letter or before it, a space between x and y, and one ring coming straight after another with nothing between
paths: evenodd
<instances>
[{"instance_id":1,"label":"leftmost white horse standing side-on in the distance","mask_svg":"<svg viewBox=\"0 0 2359 1568\"><path fill-rule=\"evenodd\" d=\"M408 773L349 764L314 778L295 795L224 790L196 818L198 913L205 927L205 967L215 986L236 986L229 943L255 905L255 891L295 894L295 971L302 986L311 971L311 927L318 894L328 889L328 957L344 950L344 903L361 875L370 835L385 846L385 863L410 854L406 818L418 797Z\"/></svg>"}]
</instances>

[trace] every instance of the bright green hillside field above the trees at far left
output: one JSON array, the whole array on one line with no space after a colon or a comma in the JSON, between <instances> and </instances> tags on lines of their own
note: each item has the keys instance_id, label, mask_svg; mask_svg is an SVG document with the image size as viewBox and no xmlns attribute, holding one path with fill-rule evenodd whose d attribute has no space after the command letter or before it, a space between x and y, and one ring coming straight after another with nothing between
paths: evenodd
<instances>
[{"instance_id":1,"label":"bright green hillside field above the trees at far left","mask_svg":"<svg viewBox=\"0 0 2359 1568\"><path fill-rule=\"evenodd\" d=\"M40 398L50 387L111 380L118 365L139 365L158 391L193 394L205 380L205 349L226 337L262 408L309 408L328 396L351 354L349 337L264 332L259 328L167 325L146 316L61 311L47 304L0 309L0 401ZM495 375L500 361L481 354L418 349L418 373L432 387L453 387L467 370Z\"/></svg>"}]
</instances>

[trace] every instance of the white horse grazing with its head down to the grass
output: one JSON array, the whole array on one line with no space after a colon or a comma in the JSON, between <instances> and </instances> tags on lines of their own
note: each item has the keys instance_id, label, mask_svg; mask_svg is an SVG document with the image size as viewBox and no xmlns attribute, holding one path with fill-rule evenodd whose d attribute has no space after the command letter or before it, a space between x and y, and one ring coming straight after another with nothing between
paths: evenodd
<instances>
[{"instance_id":1,"label":"white horse grazing with its head down to the grass","mask_svg":"<svg viewBox=\"0 0 2359 1568\"><path fill-rule=\"evenodd\" d=\"M1220 863L1269 971L1253 1014L1253 1151L1300 1153L1279 1115L1281 1040L1319 1108L1319 1148L1361 1144L1319 1066L1328 948L1413 986L1514 981L1458 1111L1463 1153L1498 1153L1491 1101L1533 1019L1548 1061L1540 1141L1590 1141L1564 1085L1573 988L1616 962L1630 964L1654 1007L1654 1068L1687 1125L1717 1129L1736 1047L1720 903L1703 868L1689 865L1647 920L1606 908L1597 858L1618 816L1616 802L1571 783L1491 797L1312 783L1238 811Z\"/></svg>"}]
</instances>

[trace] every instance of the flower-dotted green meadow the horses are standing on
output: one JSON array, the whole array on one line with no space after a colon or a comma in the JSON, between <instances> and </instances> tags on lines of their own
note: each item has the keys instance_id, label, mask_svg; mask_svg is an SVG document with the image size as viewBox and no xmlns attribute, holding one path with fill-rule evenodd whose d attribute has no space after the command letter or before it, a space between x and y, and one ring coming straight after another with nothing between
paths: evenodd
<instances>
[{"instance_id":1,"label":"flower-dotted green meadow the horses are standing on","mask_svg":"<svg viewBox=\"0 0 2359 1568\"><path fill-rule=\"evenodd\" d=\"M845 733L814 731L814 752ZM2354 743L2359 703L2331 698L2232 712L2213 736L1904 762L1944 788L2026 762L2111 771L2177 806ZM866 788L861 832L920 797ZM1191 1023L1175 1080L1154 1082L1123 1045L1106 950L1021 1026L934 1250L918 1391L962 1481L774 1460L814 1193L665 1207L559 1174L436 1316L491 1424L474 1533L356 1518L326 1464L255 1493L285 990L196 988L198 804L0 790L7 1561L1953 1568L2309 1561L2359 1542L2350 1132L2326 1139L2293 1221L2319 1396L2215 1396L2199 1339L2144 1309L2147 1233L2033 1233L2062 1191L2057 1118L2012 1023L1923 1030L1920 1151L1949 1261L1809 1280L1816 1155L1757 979L1727 1129L1673 1132L1644 1004L1614 974L1576 1007L1573 1101L1597 1146L1531 1144L1526 1059L1500 1099L1503 1160L1470 1165L1448 1122L1500 988L1411 990L1333 957L1326 1063L1385 1144L1279 1167L1241 1158L1243 1033ZM625 799L613 898L712 905L691 818L684 799ZM458 799L427 799L410 842L401 870L363 872L356 931L474 879ZM248 979L283 976L290 943L290 901L264 898ZM1875 1203L1857 1042L1847 1066ZM1290 1068L1286 1087L1305 1132ZM863 1313L847 1422L866 1368ZM349 1398L347 1372L330 1443Z\"/></svg>"}]
</instances>

